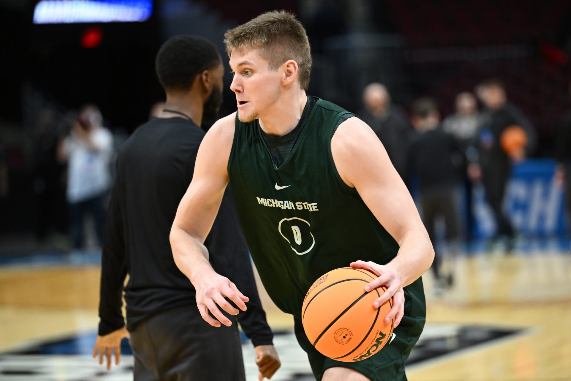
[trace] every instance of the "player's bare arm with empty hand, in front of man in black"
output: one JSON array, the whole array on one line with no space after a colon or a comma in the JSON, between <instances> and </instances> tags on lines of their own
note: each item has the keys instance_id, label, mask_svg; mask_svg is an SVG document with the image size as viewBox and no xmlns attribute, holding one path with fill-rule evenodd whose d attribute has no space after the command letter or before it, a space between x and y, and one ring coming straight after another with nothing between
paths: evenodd
<instances>
[{"instance_id":1,"label":"player's bare arm with empty hand, in front of man in black","mask_svg":"<svg viewBox=\"0 0 571 381\"><path fill-rule=\"evenodd\" d=\"M216 304L228 314L237 315L239 311L224 298L232 300L243 311L246 311L244 302L249 300L228 278L214 271L204 246L228 184L227 166L234 138L234 121L235 114L220 119L200 144L192 182L180 201L170 234L176 266L196 288L200 315L215 327L220 323L225 326L232 324ZM208 315L209 310L219 321Z\"/></svg>"}]
</instances>

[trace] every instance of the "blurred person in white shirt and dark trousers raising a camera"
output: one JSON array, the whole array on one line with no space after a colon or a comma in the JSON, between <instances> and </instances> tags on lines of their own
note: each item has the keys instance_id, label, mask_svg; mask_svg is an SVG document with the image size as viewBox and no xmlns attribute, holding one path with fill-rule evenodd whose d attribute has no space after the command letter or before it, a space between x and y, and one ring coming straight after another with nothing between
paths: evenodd
<instances>
[{"instance_id":1,"label":"blurred person in white shirt and dark trousers raising a camera","mask_svg":"<svg viewBox=\"0 0 571 381\"><path fill-rule=\"evenodd\" d=\"M69 162L67 202L70 205L74 249L83 247L83 218L86 213L93 216L99 245L103 243L103 198L111 185L109 160L113 138L102 122L102 115L96 106L83 107L70 135L58 147L59 159Z\"/></svg>"}]
</instances>

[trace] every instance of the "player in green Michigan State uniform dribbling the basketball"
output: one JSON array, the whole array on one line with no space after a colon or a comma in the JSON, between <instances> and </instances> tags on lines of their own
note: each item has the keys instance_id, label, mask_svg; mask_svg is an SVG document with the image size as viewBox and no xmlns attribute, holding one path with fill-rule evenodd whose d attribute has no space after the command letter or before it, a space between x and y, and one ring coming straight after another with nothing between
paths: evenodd
<instances>
[{"instance_id":1,"label":"player in green Michigan State uniform dribbling the basketball","mask_svg":"<svg viewBox=\"0 0 571 381\"><path fill-rule=\"evenodd\" d=\"M231 324L246 297L216 274L202 243L230 181L242 230L264 287L292 314L316 379L405 380L404 362L424 326L420 276L432 244L415 204L369 126L305 94L311 53L303 26L284 11L264 13L226 33L238 112L211 127L171 230L175 262L196 287L204 320ZM301 326L312 283L351 264L379 278L365 290L393 297L390 344L368 359L338 362L319 354ZM218 306L216 305L218 304ZM214 318L209 315L209 311Z\"/></svg>"}]
</instances>

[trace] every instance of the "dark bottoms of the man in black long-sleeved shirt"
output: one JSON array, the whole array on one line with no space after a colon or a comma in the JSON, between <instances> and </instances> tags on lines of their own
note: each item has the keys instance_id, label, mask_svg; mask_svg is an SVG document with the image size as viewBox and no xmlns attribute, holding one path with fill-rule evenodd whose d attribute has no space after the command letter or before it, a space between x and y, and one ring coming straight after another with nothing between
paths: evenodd
<instances>
[{"instance_id":1,"label":"dark bottoms of the man in black long-sleeved shirt","mask_svg":"<svg viewBox=\"0 0 571 381\"><path fill-rule=\"evenodd\" d=\"M238 324L230 320L212 327L196 306L143 320L130 332L135 381L245 381Z\"/></svg>"}]
</instances>

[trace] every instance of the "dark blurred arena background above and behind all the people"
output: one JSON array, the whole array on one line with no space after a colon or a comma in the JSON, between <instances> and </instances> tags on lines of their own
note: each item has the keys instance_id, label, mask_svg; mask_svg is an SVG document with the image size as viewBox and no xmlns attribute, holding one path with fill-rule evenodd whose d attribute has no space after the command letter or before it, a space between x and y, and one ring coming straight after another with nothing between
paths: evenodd
<instances>
[{"instance_id":1,"label":"dark blurred arena background above and behind all the people","mask_svg":"<svg viewBox=\"0 0 571 381\"><path fill-rule=\"evenodd\" d=\"M154 74L162 42L199 34L226 58L224 31L267 10L292 11L308 31L308 93L350 111L361 108L363 87L379 81L405 109L417 97L435 97L444 117L457 93L497 77L537 129L536 156L551 157L554 124L569 107L567 0L155 0L146 22L67 25L34 25L36 3L0 1L0 142L10 173L0 234L34 224L32 142L42 109L61 118L93 102L106 126L126 137L164 97ZM102 42L82 47L91 27L100 29ZM235 111L230 80L226 74L220 115Z\"/></svg>"}]
</instances>

